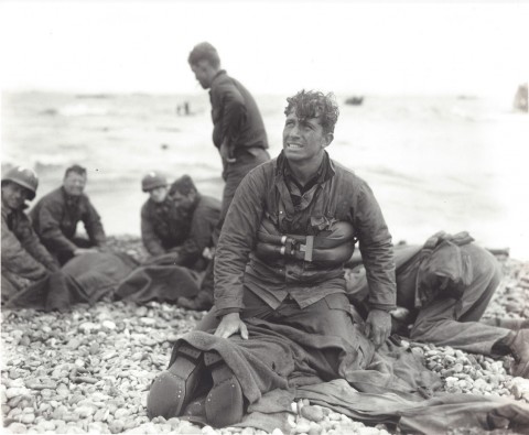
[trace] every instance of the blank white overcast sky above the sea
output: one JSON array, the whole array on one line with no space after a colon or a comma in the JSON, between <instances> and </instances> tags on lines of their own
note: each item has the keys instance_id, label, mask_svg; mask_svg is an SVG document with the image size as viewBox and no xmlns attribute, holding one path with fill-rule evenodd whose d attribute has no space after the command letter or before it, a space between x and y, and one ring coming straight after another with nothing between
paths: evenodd
<instances>
[{"instance_id":1,"label":"blank white overcast sky above the sea","mask_svg":"<svg viewBox=\"0 0 529 435\"><path fill-rule=\"evenodd\" d=\"M248 4L249 3L249 4ZM2 89L199 93L213 43L255 93L514 95L529 3L1 1Z\"/></svg>"}]
</instances>

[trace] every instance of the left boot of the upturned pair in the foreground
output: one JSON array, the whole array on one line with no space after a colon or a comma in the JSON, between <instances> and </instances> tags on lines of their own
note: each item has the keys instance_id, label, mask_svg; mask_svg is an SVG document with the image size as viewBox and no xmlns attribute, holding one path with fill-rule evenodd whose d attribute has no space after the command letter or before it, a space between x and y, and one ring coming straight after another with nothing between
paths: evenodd
<instances>
[{"instance_id":1,"label":"left boot of the upturned pair in the foreground","mask_svg":"<svg viewBox=\"0 0 529 435\"><path fill-rule=\"evenodd\" d=\"M185 405L196 398L204 376L202 351L182 345L171 367L160 373L151 384L147 398L149 418L171 418L182 415Z\"/></svg>"}]
</instances>

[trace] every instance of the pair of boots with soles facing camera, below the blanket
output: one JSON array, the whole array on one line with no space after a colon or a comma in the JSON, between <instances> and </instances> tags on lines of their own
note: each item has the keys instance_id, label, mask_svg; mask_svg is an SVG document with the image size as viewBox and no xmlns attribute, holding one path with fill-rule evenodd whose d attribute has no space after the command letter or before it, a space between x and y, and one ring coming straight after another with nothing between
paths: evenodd
<instances>
[{"instance_id":1,"label":"pair of boots with soles facing camera, below the blanket","mask_svg":"<svg viewBox=\"0 0 529 435\"><path fill-rule=\"evenodd\" d=\"M147 399L149 417L182 416L186 406L210 388L201 411L206 423L226 427L240 422L245 412L242 390L222 357L215 351L203 352L186 344L181 345L176 352L169 370L159 374L151 385Z\"/></svg>"}]
</instances>

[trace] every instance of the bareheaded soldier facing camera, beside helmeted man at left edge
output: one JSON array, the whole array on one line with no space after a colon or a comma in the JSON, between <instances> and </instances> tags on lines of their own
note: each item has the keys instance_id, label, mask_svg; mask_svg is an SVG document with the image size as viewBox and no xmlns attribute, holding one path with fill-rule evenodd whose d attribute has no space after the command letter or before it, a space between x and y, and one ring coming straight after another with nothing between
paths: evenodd
<instances>
[{"instance_id":1,"label":"bareheaded soldier facing camera, beside helmeted man at left edge","mask_svg":"<svg viewBox=\"0 0 529 435\"><path fill-rule=\"evenodd\" d=\"M84 194L85 185L86 170L73 165L66 170L63 185L43 196L30 211L33 228L42 243L61 264L74 255L106 247L101 219ZM75 236L79 221L85 225L88 240Z\"/></svg>"}]
</instances>

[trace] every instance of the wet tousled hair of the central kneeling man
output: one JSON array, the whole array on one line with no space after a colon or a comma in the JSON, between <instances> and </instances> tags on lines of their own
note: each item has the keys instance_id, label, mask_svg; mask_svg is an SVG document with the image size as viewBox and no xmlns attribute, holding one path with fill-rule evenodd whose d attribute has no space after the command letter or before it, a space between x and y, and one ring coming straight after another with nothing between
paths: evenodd
<instances>
[{"instance_id":1,"label":"wet tousled hair of the central kneeling man","mask_svg":"<svg viewBox=\"0 0 529 435\"><path fill-rule=\"evenodd\" d=\"M317 90L300 90L293 97L287 98L284 115L294 112L300 119L320 118L324 133L334 133L339 109L333 93L327 95Z\"/></svg>"}]
</instances>

